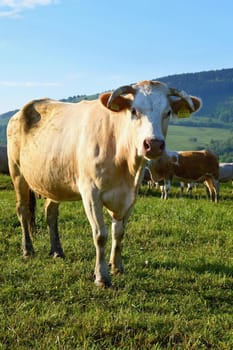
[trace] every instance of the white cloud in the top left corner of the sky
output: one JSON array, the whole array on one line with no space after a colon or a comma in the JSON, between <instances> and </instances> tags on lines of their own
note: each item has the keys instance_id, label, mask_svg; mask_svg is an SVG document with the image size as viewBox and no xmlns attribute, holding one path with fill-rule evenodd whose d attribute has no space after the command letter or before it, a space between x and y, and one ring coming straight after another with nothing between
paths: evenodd
<instances>
[{"instance_id":1,"label":"white cloud in the top left corner of the sky","mask_svg":"<svg viewBox=\"0 0 233 350\"><path fill-rule=\"evenodd\" d=\"M57 0L0 0L0 17L18 17L24 10L56 3Z\"/></svg>"}]
</instances>

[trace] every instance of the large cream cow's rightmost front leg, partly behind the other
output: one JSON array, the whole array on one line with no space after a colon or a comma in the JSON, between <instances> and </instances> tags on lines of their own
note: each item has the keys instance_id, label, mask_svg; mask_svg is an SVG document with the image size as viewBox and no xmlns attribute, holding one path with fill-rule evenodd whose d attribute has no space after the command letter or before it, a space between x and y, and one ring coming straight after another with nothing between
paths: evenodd
<instances>
[{"instance_id":1,"label":"large cream cow's rightmost front leg, partly behind the other","mask_svg":"<svg viewBox=\"0 0 233 350\"><path fill-rule=\"evenodd\" d=\"M123 220L112 220L112 249L109 265L111 266L111 272L114 275L124 272L121 256L124 229L125 225Z\"/></svg>"}]
</instances>

